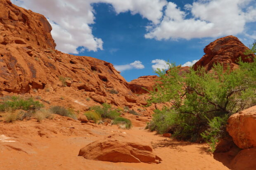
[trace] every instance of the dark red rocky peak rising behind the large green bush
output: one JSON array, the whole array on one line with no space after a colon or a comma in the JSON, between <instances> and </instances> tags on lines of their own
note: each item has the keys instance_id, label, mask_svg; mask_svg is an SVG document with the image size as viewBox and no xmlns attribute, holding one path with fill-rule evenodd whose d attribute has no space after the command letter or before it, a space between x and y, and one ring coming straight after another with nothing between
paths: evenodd
<instances>
[{"instance_id":1,"label":"dark red rocky peak rising behind the large green bush","mask_svg":"<svg viewBox=\"0 0 256 170\"><path fill-rule=\"evenodd\" d=\"M238 59L242 58L244 62L252 62L254 56L244 55L249 50L237 37L227 36L211 42L204 48L205 55L194 64L194 69L205 67L207 71L211 70L213 64L221 63L224 68L235 69L238 67ZM254 56L255 57L255 56Z\"/></svg>"}]
</instances>

